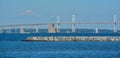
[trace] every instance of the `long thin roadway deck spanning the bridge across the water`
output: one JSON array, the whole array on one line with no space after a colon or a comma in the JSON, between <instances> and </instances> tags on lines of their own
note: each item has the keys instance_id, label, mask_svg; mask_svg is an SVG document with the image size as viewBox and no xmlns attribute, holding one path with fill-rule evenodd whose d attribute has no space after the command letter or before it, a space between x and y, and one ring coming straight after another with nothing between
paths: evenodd
<instances>
[{"instance_id":1,"label":"long thin roadway deck spanning the bridge across the water","mask_svg":"<svg viewBox=\"0 0 120 58\"><path fill-rule=\"evenodd\" d=\"M0 25L3 27L21 27L21 26L38 26L38 25L48 25L48 24L120 24L120 22L59 22L59 23L38 23L38 24L15 24L15 25Z\"/></svg>"}]
</instances>

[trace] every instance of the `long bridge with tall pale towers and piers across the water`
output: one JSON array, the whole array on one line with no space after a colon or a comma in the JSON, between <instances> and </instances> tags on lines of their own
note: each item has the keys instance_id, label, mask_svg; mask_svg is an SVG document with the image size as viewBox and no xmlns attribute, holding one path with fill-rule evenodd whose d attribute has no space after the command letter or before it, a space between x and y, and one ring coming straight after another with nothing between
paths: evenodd
<instances>
[{"instance_id":1,"label":"long bridge with tall pale towers and piers across the water","mask_svg":"<svg viewBox=\"0 0 120 58\"><path fill-rule=\"evenodd\" d=\"M24 27L27 27L27 26L34 26L35 32L38 33L40 25L48 26L48 32L55 33L55 32L60 32L61 24L72 24L72 32L75 32L76 24L114 24L113 32L117 32L117 24L120 24L120 22L117 22L117 20L116 20L116 15L114 15L113 22L76 22L75 20L76 20L75 15L72 15L72 22L60 22L60 18L59 18L59 16L57 16L57 22L51 22L51 23L0 25L0 33L3 33L3 29L7 29L8 30L7 33L12 33L11 32L12 28L19 28L20 33L26 33L26 32L24 32ZM55 31L54 25L57 25L57 31ZM96 33L98 33L97 28L96 28Z\"/></svg>"}]
</instances>

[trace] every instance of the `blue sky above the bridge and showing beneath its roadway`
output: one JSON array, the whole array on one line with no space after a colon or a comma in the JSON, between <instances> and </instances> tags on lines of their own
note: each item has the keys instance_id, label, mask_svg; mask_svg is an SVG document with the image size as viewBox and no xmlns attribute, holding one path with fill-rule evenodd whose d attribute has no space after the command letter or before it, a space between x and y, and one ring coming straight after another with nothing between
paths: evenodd
<instances>
[{"instance_id":1,"label":"blue sky above the bridge and showing beneath its roadway","mask_svg":"<svg viewBox=\"0 0 120 58\"><path fill-rule=\"evenodd\" d=\"M120 22L120 0L0 0L0 25L71 22L113 22L117 15ZM71 25L61 25L61 28ZM113 29L113 25L76 25L76 28ZM120 29L120 25L117 26Z\"/></svg>"}]
</instances>

